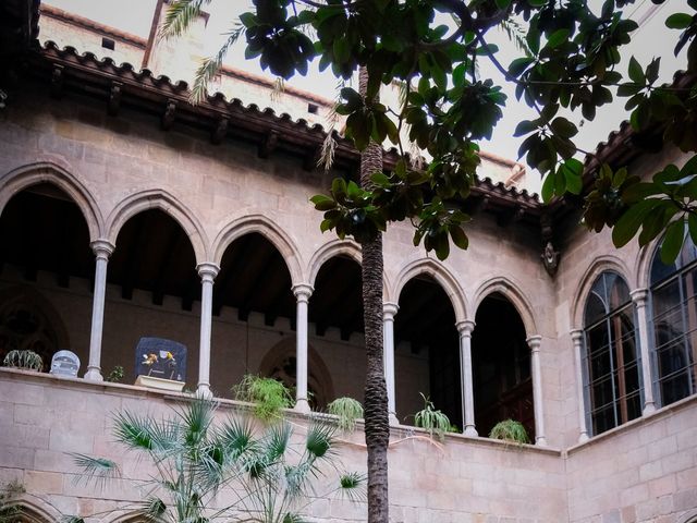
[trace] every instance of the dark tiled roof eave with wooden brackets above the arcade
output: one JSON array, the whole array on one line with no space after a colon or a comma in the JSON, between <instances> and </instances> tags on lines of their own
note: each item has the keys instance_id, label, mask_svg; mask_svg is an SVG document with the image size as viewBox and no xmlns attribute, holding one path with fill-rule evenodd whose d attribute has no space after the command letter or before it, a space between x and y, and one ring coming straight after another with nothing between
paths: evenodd
<instances>
[{"instance_id":1,"label":"dark tiled roof eave with wooden brackets above the arcade","mask_svg":"<svg viewBox=\"0 0 697 523\"><path fill-rule=\"evenodd\" d=\"M261 109L256 105L245 106L240 99L228 100L222 94L209 96L199 105L188 101L188 86L185 82L172 82L167 76L154 76L148 70L136 71L129 63L117 64L110 58L97 59L93 53L78 53L74 48L59 49L53 42L46 42L30 60L30 70L40 82L50 82L54 69L61 69L64 89L83 92L93 97L109 100L110 89L119 84L123 102L150 113L164 111L168 101L176 105L178 121L213 130L217 122L225 119L235 134L243 133L252 139L262 141L273 133L279 146L299 156L316 155L327 135L319 124L310 125L304 119L293 120L289 114L277 114L272 109ZM357 166L359 154L352 142L337 137L337 165ZM398 160L394 148L386 150L386 169L391 169ZM505 187L489 179L479 180L473 194L487 196L493 207L518 208L529 219L538 220L541 206L536 195L515 187Z\"/></svg>"}]
</instances>

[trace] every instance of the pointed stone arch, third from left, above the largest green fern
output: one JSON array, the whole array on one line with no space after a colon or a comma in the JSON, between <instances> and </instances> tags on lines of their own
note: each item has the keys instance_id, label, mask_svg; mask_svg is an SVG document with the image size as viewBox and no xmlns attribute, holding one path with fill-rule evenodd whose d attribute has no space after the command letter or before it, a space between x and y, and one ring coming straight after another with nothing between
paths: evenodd
<instances>
[{"instance_id":1,"label":"pointed stone arch, third from left, above the largest green fern","mask_svg":"<svg viewBox=\"0 0 697 523\"><path fill-rule=\"evenodd\" d=\"M228 223L213 240L211 247L213 263L220 266L228 246L239 238L252 232L261 234L281 253L291 273L293 285L304 282L301 255L295 243L285 231L261 215L245 216Z\"/></svg>"}]
</instances>

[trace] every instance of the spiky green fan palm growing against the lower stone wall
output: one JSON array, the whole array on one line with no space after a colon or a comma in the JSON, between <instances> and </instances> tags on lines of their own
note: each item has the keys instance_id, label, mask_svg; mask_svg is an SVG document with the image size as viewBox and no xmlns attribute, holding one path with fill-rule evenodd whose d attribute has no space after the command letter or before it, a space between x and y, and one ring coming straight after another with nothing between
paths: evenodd
<instances>
[{"instance_id":1,"label":"spiky green fan palm growing against the lower stone wall","mask_svg":"<svg viewBox=\"0 0 697 523\"><path fill-rule=\"evenodd\" d=\"M311 479L325 476L327 463L332 465L327 469L338 470L333 428L311 425L304 441L293 443L293 429L284 421L257 435L246 417L230 416L216 423L216 408L213 401L197 398L169 419L129 412L114 416L117 441L147 459L156 471L149 479L134 481L147 492L134 515L158 523L236 518L258 523L299 522L301 513L311 503ZM126 481L111 460L85 454L74 454L74 459L87 481ZM360 475L343 473L330 491L321 495L342 491L359 499L363 484ZM232 502L213 509L216 495L223 487L232 492ZM120 507L130 509L133 506ZM70 520L84 523L78 516Z\"/></svg>"}]
</instances>

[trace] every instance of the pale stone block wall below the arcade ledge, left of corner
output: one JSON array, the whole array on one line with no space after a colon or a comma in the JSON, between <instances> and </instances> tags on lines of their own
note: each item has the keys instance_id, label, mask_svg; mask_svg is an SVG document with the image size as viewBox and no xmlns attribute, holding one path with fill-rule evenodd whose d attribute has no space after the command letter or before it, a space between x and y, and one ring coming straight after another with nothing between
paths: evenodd
<instances>
[{"instance_id":1,"label":"pale stone block wall below the arcade ledge, left of corner","mask_svg":"<svg viewBox=\"0 0 697 523\"><path fill-rule=\"evenodd\" d=\"M125 477L147 477L144 462L113 443L110 417L120 410L161 415L182 401L137 387L0 369L0 485L21 482L26 499L54 516L86 515L111 510L117 500L136 500L126 482L101 491L76 484L70 453L114 459ZM224 402L219 415L235 414L237 405ZM302 431L306 418L290 415ZM365 472L363 433L347 439L339 449L344 467ZM394 522L558 523L566 513L564 463L555 450L464 436L431 440L404 427L393 429L389 460ZM334 498L310 506L317 522L366 521L365 510Z\"/></svg>"}]
</instances>

